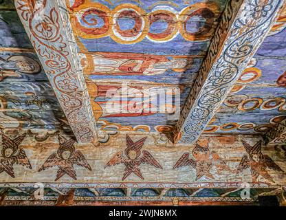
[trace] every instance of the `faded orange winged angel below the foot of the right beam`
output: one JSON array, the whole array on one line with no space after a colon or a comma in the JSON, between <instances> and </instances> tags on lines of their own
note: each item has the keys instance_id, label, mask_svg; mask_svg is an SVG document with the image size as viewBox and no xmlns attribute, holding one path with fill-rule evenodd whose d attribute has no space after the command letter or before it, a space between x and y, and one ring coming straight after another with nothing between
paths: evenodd
<instances>
[{"instance_id":1,"label":"faded orange winged angel below the foot of the right beam","mask_svg":"<svg viewBox=\"0 0 286 220\"><path fill-rule=\"evenodd\" d=\"M215 179L212 173L210 173L210 169L213 166L217 168L217 174L221 174L223 171L231 173L230 167L219 157L218 153L210 151L207 139L197 141L196 146L192 149L192 156L195 159L190 158L190 153L184 153L173 166L173 169L183 166L194 168L197 173L196 181L203 176Z\"/></svg>"}]
</instances>

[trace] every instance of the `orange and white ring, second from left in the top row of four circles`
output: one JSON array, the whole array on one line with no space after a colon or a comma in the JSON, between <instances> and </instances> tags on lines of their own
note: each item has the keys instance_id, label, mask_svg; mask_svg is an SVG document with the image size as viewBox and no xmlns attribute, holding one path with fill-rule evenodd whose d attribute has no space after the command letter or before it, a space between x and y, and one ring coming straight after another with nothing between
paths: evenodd
<instances>
[{"instance_id":1,"label":"orange and white ring, second from left in the top row of four circles","mask_svg":"<svg viewBox=\"0 0 286 220\"><path fill-rule=\"evenodd\" d=\"M122 30L120 28L120 19L132 19L134 21L133 28ZM110 37L113 41L122 44L137 43L142 41L148 34L149 21L146 16L146 12L131 4L118 5L111 12L111 17L109 22L112 25L112 31L110 32Z\"/></svg>"}]
</instances>

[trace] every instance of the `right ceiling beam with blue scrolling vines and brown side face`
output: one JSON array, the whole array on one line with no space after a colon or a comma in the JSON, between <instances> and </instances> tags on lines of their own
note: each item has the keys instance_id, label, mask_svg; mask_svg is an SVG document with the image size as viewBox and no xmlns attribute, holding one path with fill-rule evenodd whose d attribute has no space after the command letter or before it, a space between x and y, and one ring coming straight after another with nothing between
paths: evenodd
<instances>
[{"instance_id":1,"label":"right ceiling beam with blue scrolling vines and brown side face","mask_svg":"<svg viewBox=\"0 0 286 220\"><path fill-rule=\"evenodd\" d=\"M230 0L175 126L174 141L195 142L272 28L283 0Z\"/></svg>"}]
</instances>

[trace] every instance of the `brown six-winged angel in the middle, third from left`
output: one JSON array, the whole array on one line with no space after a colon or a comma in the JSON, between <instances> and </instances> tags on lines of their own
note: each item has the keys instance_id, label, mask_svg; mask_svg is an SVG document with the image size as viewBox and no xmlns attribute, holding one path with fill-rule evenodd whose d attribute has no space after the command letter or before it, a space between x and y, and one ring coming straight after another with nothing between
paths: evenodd
<instances>
[{"instance_id":1,"label":"brown six-winged angel in the middle, third from left","mask_svg":"<svg viewBox=\"0 0 286 220\"><path fill-rule=\"evenodd\" d=\"M131 137L129 137L129 135L126 135L126 149L124 150L125 156L123 154L123 151L119 151L109 160L109 162L104 166L104 168L107 168L108 166L124 164L125 168L122 180L126 179L126 177L131 175L131 173L137 175L137 177L140 177L141 179L144 179L139 168L141 164L148 164L151 166L155 166L155 168L163 169L159 162L157 162L157 160L148 151L143 150L143 155L140 157L141 149L144 145L146 138L147 137L143 137L137 142L133 142L133 140L131 140Z\"/></svg>"}]
</instances>

